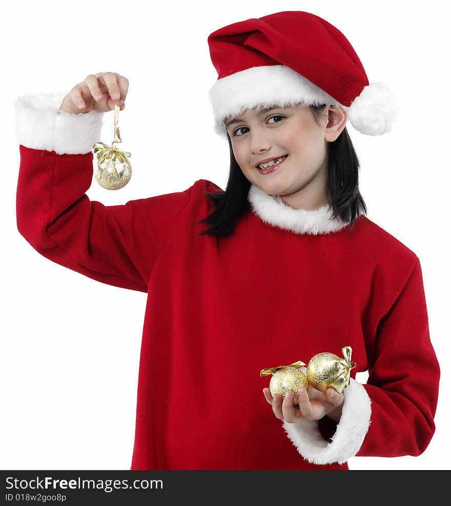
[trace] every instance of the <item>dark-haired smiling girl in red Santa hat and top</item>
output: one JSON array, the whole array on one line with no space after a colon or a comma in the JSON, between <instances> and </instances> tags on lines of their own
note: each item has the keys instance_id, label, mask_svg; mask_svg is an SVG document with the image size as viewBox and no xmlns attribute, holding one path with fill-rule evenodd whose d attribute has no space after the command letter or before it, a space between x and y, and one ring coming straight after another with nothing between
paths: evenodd
<instances>
[{"instance_id":1,"label":"dark-haired smiling girl in red Santa hat and top","mask_svg":"<svg viewBox=\"0 0 451 506\"><path fill-rule=\"evenodd\" d=\"M421 454L440 373L420 261L366 218L345 128L389 132L393 95L308 12L235 23L208 44L225 191L200 179L120 206L89 200L103 113L127 96L117 73L89 75L62 103L16 102L19 232L60 265L148 294L131 469L331 470ZM300 390L295 407L259 376L344 346L357 368L342 394Z\"/></svg>"}]
</instances>

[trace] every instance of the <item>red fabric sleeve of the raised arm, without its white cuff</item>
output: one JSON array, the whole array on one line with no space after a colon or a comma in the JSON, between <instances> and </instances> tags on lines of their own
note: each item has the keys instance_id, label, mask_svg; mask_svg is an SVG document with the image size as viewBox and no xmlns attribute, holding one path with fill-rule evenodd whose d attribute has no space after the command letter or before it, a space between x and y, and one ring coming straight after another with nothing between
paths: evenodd
<instances>
[{"instance_id":1,"label":"red fabric sleeve of the raised arm, without its white cuff","mask_svg":"<svg viewBox=\"0 0 451 506\"><path fill-rule=\"evenodd\" d=\"M108 285L147 292L151 270L188 205L192 187L104 206L86 195L92 153L19 149L20 234L61 266Z\"/></svg>"}]
</instances>

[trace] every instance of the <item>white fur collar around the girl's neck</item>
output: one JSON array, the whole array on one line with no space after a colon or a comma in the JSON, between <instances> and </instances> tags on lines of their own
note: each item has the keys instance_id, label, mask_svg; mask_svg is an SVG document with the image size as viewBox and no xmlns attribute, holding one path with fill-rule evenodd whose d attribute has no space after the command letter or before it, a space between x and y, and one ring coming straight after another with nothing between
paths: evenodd
<instances>
[{"instance_id":1,"label":"white fur collar around the girl's neck","mask_svg":"<svg viewBox=\"0 0 451 506\"><path fill-rule=\"evenodd\" d=\"M341 218L332 219L329 206L319 209L293 209L278 196L268 195L251 185L248 195L253 211L266 223L296 234L327 234L348 225Z\"/></svg>"}]
</instances>

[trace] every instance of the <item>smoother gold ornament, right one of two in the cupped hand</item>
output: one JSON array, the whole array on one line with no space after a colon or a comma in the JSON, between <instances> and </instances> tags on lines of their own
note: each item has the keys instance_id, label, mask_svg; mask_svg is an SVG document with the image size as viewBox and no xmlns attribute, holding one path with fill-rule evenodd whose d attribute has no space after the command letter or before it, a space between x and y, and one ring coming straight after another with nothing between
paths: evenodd
<instances>
[{"instance_id":1,"label":"smoother gold ornament, right one of two in the cupped hand","mask_svg":"<svg viewBox=\"0 0 451 506\"><path fill-rule=\"evenodd\" d=\"M333 353L318 353L307 366L307 379L312 387L325 392L328 388L334 388L340 394L350 385L351 369L357 364L351 362L352 348L346 346L341 349L344 358Z\"/></svg>"}]
</instances>

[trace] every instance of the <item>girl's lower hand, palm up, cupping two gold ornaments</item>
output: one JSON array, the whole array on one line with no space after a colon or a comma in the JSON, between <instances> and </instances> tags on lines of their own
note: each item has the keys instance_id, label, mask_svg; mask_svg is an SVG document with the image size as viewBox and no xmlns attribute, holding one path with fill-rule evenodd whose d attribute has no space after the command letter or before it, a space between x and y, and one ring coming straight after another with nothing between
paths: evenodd
<instances>
[{"instance_id":1,"label":"girl's lower hand, palm up, cupping two gold ornaments","mask_svg":"<svg viewBox=\"0 0 451 506\"><path fill-rule=\"evenodd\" d=\"M338 422L341 417L344 395L339 394L333 388L320 392L310 385L309 393L305 392L304 389L299 389L299 406L293 405L292 392L285 395L285 399L279 394L274 394L273 397L269 388L264 388L263 394L273 407L276 418L285 420L288 423L295 423L302 418L319 420L325 415Z\"/></svg>"}]
</instances>

